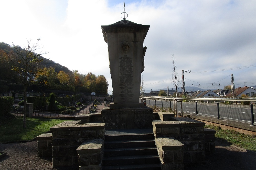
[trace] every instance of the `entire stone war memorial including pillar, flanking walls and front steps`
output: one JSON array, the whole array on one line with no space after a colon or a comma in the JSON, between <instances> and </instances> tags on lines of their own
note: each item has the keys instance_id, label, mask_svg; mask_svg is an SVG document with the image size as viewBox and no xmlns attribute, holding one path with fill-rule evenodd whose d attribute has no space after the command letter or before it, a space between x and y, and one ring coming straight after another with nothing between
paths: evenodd
<instances>
[{"instance_id":1,"label":"entire stone war memorial including pillar, flanking walls and front steps","mask_svg":"<svg viewBox=\"0 0 256 170\"><path fill-rule=\"evenodd\" d=\"M189 169L203 163L215 150L215 130L188 117L153 112L139 102L141 73L147 69L143 42L150 26L123 17L101 28L114 103L102 113L78 115L37 136L38 156L52 157L55 168L79 170Z\"/></svg>"}]
</instances>

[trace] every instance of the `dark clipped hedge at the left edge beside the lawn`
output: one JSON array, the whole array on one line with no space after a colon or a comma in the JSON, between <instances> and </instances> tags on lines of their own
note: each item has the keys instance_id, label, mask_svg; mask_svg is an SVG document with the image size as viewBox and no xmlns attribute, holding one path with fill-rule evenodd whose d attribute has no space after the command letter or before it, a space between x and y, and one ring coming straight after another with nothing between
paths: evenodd
<instances>
[{"instance_id":1,"label":"dark clipped hedge at the left edge beside the lawn","mask_svg":"<svg viewBox=\"0 0 256 170\"><path fill-rule=\"evenodd\" d=\"M0 97L0 117L4 117L7 114L10 114L10 111L13 108L14 97Z\"/></svg>"}]
</instances>

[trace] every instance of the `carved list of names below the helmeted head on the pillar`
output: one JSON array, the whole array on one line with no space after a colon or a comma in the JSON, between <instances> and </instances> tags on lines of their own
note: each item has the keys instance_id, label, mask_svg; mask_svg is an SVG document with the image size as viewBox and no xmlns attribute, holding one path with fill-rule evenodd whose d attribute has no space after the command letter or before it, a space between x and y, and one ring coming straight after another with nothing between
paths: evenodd
<instances>
[{"instance_id":1,"label":"carved list of names below the helmeted head on the pillar","mask_svg":"<svg viewBox=\"0 0 256 170\"><path fill-rule=\"evenodd\" d=\"M119 88L120 99L123 103L132 102L133 97L133 61L132 57L119 57Z\"/></svg>"}]
</instances>

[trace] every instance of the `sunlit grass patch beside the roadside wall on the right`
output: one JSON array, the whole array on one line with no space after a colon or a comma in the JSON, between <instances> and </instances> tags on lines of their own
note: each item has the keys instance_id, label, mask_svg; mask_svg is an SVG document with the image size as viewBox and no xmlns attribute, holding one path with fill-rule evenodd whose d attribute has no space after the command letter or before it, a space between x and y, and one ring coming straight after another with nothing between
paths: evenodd
<instances>
[{"instance_id":1,"label":"sunlit grass patch beside the roadside wall on the right","mask_svg":"<svg viewBox=\"0 0 256 170\"><path fill-rule=\"evenodd\" d=\"M206 125L205 127L216 130L215 137L222 141L227 141L230 145L234 145L240 148L256 151L256 136L245 135L243 133L236 132L234 130L224 130L219 126Z\"/></svg>"}]
</instances>

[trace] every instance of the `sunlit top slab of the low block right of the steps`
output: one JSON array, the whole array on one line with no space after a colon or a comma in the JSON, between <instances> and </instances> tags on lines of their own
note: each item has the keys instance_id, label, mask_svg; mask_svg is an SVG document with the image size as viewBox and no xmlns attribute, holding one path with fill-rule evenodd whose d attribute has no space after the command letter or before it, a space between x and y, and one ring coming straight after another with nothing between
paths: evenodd
<instances>
[{"instance_id":1,"label":"sunlit top slab of the low block right of the steps","mask_svg":"<svg viewBox=\"0 0 256 170\"><path fill-rule=\"evenodd\" d=\"M162 148L162 150L164 151L182 149L184 146L180 141L172 137L155 138L155 141L156 141L156 145Z\"/></svg>"}]
</instances>

